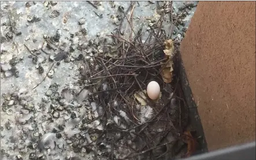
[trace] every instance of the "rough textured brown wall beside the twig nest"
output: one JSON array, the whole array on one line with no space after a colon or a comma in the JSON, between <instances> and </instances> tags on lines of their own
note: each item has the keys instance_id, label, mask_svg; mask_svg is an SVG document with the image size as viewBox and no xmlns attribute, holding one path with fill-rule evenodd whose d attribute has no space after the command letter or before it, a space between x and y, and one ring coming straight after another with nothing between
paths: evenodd
<instances>
[{"instance_id":1,"label":"rough textured brown wall beside the twig nest","mask_svg":"<svg viewBox=\"0 0 256 160\"><path fill-rule=\"evenodd\" d=\"M209 150L255 140L255 2L199 2L181 56Z\"/></svg>"}]
</instances>

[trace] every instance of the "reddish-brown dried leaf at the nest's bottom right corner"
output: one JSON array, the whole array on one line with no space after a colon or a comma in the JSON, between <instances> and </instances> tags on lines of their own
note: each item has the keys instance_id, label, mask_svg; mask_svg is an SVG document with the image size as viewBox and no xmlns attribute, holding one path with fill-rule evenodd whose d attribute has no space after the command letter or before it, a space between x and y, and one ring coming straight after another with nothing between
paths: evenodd
<instances>
[{"instance_id":1,"label":"reddish-brown dried leaf at the nest's bottom right corner","mask_svg":"<svg viewBox=\"0 0 256 160\"><path fill-rule=\"evenodd\" d=\"M190 131L184 132L183 141L188 144L188 150L184 157L190 157L196 151L196 140L191 135Z\"/></svg>"}]
</instances>

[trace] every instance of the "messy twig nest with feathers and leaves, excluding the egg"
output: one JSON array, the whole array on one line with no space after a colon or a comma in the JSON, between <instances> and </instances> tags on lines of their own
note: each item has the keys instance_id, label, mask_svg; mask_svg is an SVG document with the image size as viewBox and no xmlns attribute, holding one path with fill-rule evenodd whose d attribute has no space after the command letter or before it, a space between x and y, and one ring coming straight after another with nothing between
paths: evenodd
<instances>
[{"instance_id":1,"label":"messy twig nest with feathers and leaves, excluding the egg","mask_svg":"<svg viewBox=\"0 0 256 160\"><path fill-rule=\"evenodd\" d=\"M103 124L102 129L88 132L98 133L94 142L110 144L112 153L107 157L113 159L185 156L190 135L184 134L188 112L176 65L179 42L168 40L161 26L145 41L142 35L138 32L133 39L118 32L110 35L116 45L105 45L103 54L89 56L93 67L85 61L90 71L84 79L91 85L84 88L92 93L89 99L96 102L98 114L87 124L95 120ZM161 87L157 100L147 96L150 81Z\"/></svg>"}]
</instances>

